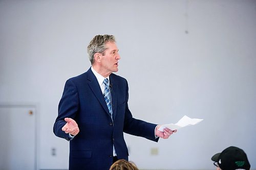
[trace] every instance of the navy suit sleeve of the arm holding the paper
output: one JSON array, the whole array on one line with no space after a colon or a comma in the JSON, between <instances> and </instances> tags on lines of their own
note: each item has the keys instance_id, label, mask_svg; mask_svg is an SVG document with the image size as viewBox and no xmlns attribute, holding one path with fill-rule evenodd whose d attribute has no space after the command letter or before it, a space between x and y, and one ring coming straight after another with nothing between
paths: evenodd
<instances>
[{"instance_id":1,"label":"navy suit sleeve of the arm holding the paper","mask_svg":"<svg viewBox=\"0 0 256 170\"><path fill-rule=\"evenodd\" d=\"M148 123L143 120L139 120L133 117L128 107L129 100L129 87L126 81L126 100L125 100L125 115L124 115L124 127L125 133L144 137L153 141L158 141L159 138L155 137L156 124Z\"/></svg>"}]
</instances>

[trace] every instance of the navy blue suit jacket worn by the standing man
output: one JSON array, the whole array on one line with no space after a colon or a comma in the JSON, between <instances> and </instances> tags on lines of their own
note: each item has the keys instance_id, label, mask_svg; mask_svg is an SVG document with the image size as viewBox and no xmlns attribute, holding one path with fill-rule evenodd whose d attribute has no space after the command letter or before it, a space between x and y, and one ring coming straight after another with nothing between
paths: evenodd
<instances>
[{"instance_id":1,"label":"navy blue suit jacket worn by the standing man","mask_svg":"<svg viewBox=\"0 0 256 170\"><path fill-rule=\"evenodd\" d=\"M64 118L73 118L78 124L80 132L70 140L70 170L109 169L113 162L113 144L118 159L128 160L123 132L158 141L157 125L133 118L127 104L127 81L111 74L110 84L113 122L91 68L65 84L53 131L56 136L69 140L69 135L61 130L66 124Z\"/></svg>"}]
</instances>

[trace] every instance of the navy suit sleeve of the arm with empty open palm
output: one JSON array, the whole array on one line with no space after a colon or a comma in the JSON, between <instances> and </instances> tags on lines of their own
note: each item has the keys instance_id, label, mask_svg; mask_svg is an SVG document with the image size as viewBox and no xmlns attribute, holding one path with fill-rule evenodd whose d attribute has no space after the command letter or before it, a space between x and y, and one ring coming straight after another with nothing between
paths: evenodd
<instances>
[{"instance_id":1,"label":"navy suit sleeve of the arm with empty open palm","mask_svg":"<svg viewBox=\"0 0 256 170\"><path fill-rule=\"evenodd\" d=\"M66 117L75 119L78 108L79 99L77 88L71 80L68 80L59 102L58 116L53 126L53 132L56 136L70 140L69 134L66 134L61 128L66 124L64 120Z\"/></svg>"}]
</instances>

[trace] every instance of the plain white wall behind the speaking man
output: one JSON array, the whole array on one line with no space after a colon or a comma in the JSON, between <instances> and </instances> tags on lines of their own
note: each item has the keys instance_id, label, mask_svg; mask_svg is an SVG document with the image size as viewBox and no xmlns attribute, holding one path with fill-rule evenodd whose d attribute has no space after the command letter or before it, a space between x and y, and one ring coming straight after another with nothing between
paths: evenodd
<instances>
[{"instance_id":1,"label":"plain white wall behind the speaking man","mask_svg":"<svg viewBox=\"0 0 256 170\"><path fill-rule=\"evenodd\" d=\"M89 68L90 40L113 34L134 117L204 118L158 143L126 135L130 160L139 168L214 169L210 157L235 145L256 169L255 30L249 0L0 1L0 103L36 103L38 168L68 168L69 143L52 132L63 86Z\"/></svg>"}]
</instances>

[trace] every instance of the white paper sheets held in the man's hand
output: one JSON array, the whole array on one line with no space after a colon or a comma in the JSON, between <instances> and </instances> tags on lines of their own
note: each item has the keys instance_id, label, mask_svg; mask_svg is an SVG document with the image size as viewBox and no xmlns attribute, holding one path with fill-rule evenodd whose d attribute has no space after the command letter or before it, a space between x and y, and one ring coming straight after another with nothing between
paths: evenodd
<instances>
[{"instance_id":1,"label":"white paper sheets held in the man's hand","mask_svg":"<svg viewBox=\"0 0 256 170\"><path fill-rule=\"evenodd\" d=\"M163 132L164 128L169 128L170 130L177 130L189 125L196 125L199 122L201 122L203 119L201 118L190 118L186 115L184 115L176 124L168 124L168 125L162 125L158 129L159 131Z\"/></svg>"}]
</instances>

